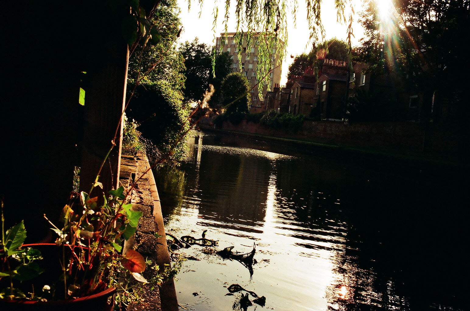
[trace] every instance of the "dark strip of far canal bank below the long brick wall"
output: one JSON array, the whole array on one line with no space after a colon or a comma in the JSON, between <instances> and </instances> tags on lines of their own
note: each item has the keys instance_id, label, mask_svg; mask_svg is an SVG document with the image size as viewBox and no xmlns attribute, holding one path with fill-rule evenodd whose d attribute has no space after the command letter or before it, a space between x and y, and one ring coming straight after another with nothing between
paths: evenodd
<instances>
[{"instance_id":1,"label":"dark strip of far canal bank below the long brick wall","mask_svg":"<svg viewBox=\"0 0 470 311\"><path fill-rule=\"evenodd\" d=\"M468 161L465 157L458 157L455 154L430 155L415 152L391 152L375 148L359 148L339 144L325 144L312 140L299 138L275 137L263 134L254 134L230 129L213 129L201 127L201 130L208 133L220 133L225 135L234 135L238 137L247 137L265 142L283 144L287 146L296 146L305 148L306 151L332 155L346 161L354 163L363 163L375 165L378 167L410 167L421 171L434 170L435 173L456 172L458 174L467 174L470 170ZM465 158L465 159L464 159Z\"/></svg>"}]
</instances>

